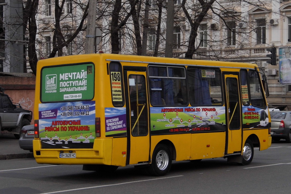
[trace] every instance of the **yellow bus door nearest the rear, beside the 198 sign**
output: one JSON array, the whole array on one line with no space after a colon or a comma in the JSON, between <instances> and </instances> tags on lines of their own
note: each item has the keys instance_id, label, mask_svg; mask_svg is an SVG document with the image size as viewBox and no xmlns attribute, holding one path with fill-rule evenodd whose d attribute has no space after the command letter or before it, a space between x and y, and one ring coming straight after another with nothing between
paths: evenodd
<instances>
[{"instance_id":1,"label":"yellow bus door nearest the rear, beside the 198 sign","mask_svg":"<svg viewBox=\"0 0 291 194\"><path fill-rule=\"evenodd\" d=\"M148 92L146 73L126 71L127 77L127 118L130 126L127 134L127 165L149 161L150 134L148 125Z\"/></svg>"}]
</instances>

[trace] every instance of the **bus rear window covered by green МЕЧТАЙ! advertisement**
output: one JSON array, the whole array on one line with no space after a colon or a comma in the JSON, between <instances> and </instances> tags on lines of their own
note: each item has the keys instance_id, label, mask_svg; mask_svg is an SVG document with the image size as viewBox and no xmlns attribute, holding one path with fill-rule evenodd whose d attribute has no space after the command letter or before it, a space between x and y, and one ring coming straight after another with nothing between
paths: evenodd
<instances>
[{"instance_id":1,"label":"bus rear window covered by green \u041c\u0415\u0427\u0422\u0410\u0419! advertisement","mask_svg":"<svg viewBox=\"0 0 291 194\"><path fill-rule=\"evenodd\" d=\"M42 68L41 102L92 100L94 74L92 63Z\"/></svg>"}]
</instances>

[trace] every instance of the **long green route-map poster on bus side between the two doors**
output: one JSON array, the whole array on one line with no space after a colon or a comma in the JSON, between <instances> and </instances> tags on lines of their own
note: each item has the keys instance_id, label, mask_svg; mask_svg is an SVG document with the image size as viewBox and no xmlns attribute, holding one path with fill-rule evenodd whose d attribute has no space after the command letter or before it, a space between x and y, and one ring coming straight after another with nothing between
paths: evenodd
<instances>
[{"instance_id":1,"label":"long green route-map poster on bus side between the two doors","mask_svg":"<svg viewBox=\"0 0 291 194\"><path fill-rule=\"evenodd\" d=\"M151 134L226 131L225 107L151 107Z\"/></svg>"}]
</instances>

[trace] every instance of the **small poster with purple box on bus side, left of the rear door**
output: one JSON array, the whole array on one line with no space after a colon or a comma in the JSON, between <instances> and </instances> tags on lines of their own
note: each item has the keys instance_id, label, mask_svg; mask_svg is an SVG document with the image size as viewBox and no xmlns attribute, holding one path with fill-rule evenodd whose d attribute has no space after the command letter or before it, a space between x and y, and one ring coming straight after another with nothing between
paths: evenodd
<instances>
[{"instance_id":1,"label":"small poster with purple box on bus side, left of the rear door","mask_svg":"<svg viewBox=\"0 0 291 194\"><path fill-rule=\"evenodd\" d=\"M126 136L126 108L105 108L105 135Z\"/></svg>"}]
</instances>

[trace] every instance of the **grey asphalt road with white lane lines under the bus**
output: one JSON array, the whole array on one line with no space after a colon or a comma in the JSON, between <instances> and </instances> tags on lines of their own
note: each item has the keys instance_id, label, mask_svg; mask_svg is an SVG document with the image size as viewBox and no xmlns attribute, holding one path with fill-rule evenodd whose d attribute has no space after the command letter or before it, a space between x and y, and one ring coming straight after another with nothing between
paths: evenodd
<instances>
[{"instance_id":1,"label":"grey asphalt road with white lane lines under the bus","mask_svg":"<svg viewBox=\"0 0 291 194\"><path fill-rule=\"evenodd\" d=\"M197 193L280 194L290 193L291 144L281 140L267 150L255 149L247 166L226 159L200 163L173 162L164 177L142 175L134 167L99 175L81 165L37 164L33 158L0 161L0 193Z\"/></svg>"}]
</instances>

